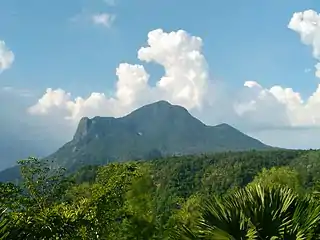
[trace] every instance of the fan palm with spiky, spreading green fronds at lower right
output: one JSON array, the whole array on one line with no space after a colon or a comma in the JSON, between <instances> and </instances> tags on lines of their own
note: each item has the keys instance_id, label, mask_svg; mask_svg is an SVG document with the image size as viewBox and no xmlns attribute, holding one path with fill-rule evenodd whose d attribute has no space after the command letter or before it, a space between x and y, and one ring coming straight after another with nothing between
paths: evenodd
<instances>
[{"instance_id":1,"label":"fan palm with spiky, spreading green fronds at lower right","mask_svg":"<svg viewBox=\"0 0 320 240\"><path fill-rule=\"evenodd\" d=\"M207 200L193 229L176 239L318 239L320 207L289 188L251 185Z\"/></svg>"}]
</instances>

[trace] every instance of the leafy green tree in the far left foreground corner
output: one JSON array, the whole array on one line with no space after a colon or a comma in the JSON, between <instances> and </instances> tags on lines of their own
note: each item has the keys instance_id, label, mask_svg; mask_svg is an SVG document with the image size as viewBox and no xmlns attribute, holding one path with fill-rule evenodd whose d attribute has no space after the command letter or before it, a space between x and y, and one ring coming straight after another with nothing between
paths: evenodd
<instances>
[{"instance_id":1,"label":"leafy green tree in the far left foreground corner","mask_svg":"<svg viewBox=\"0 0 320 240\"><path fill-rule=\"evenodd\" d=\"M4 239L64 239L72 234L72 219L61 213L59 202L68 187L63 168L54 168L45 160L28 158L18 162L23 188L2 184L9 219ZM11 203L8 201L10 200Z\"/></svg>"}]
</instances>

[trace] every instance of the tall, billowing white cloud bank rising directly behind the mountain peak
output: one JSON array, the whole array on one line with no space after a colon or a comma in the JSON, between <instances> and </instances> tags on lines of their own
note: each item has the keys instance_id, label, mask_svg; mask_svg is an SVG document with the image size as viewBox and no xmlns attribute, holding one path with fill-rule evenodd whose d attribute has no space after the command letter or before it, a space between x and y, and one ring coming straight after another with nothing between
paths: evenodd
<instances>
[{"instance_id":1,"label":"tall, billowing white cloud bank rising directly behind the mountain peak","mask_svg":"<svg viewBox=\"0 0 320 240\"><path fill-rule=\"evenodd\" d=\"M71 94L62 89L49 88L29 112L39 115L55 112L77 122L82 116L121 116L142 104L161 99L187 109L200 108L210 85L201 47L201 38L182 30L151 31L148 46L138 51L138 58L164 67L165 75L155 87L149 85L149 74L142 65L121 63L116 69L118 81L114 96L92 93L88 98L72 99Z\"/></svg>"}]
</instances>

